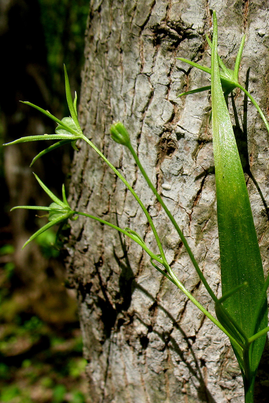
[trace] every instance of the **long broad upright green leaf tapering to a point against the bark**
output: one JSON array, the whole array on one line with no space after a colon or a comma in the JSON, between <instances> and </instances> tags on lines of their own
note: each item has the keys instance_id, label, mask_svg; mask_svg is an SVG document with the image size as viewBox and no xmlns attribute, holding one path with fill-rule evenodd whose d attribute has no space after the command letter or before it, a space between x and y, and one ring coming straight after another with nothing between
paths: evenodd
<instances>
[{"instance_id":1,"label":"long broad upright green leaf tapering to a point against the bark","mask_svg":"<svg viewBox=\"0 0 269 403\"><path fill-rule=\"evenodd\" d=\"M236 322L242 334L253 335L256 306L263 290L264 275L261 254L252 218L248 191L240 156L237 150L231 119L221 87L217 54L217 23L213 12L214 35L212 44L212 131L215 160L217 217L221 260L223 295L244 282L241 288L223 301L223 307ZM219 318L221 321L221 318ZM225 326L225 324L223 324ZM257 330L267 326L267 310L258 317ZM244 384L251 384L263 352L265 336L257 339L250 350L243 351ZM242 360L232 343L238 361Z\"/></svg>"}]
</instances>

